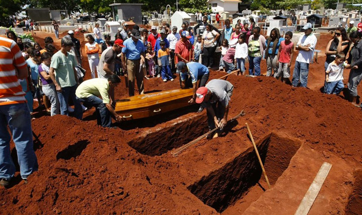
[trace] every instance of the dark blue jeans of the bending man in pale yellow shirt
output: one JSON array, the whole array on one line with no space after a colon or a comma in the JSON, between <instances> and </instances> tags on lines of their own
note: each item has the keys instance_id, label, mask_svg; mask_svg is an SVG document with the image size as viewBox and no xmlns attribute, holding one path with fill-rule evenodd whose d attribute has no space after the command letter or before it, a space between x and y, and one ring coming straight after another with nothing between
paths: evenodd
<instances>
[{"instance_id":1,"label":"dark blue jeans of the bending man in pale yellow shirt","mask_svg":"<svg viewBox=\"0 0 362 215\"><path fill-rule=\"evenodd\" d=\"M106 104L103 103L103 100L97 96L91 95L88 98L78 98L79 102L83 102L86 105L95 107L95 113L97 115L97 124L103 127L111 127L112 118L111 112L107 109ZM83 114L82 114L83 115Z\"/></svg>"}]
</instances>

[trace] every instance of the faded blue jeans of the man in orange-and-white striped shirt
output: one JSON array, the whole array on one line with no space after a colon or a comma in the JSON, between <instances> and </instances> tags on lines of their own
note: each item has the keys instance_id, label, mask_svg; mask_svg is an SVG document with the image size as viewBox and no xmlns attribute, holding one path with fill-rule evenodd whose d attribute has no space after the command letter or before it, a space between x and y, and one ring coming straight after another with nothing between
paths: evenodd
<instances>
[{"instance_id":1,"label":"faded blue jeans of the man in orange-and-white striped shirt","mask_svg":"<svg viewBox=\"0 0 362 215\"><path fill-rule=\"evenodd\" d=\"M26 103L0 105L0 178L11 179L15 165L10 155L9 125L18 153L20 174L26 179L38 170L38 161L33 149L33 133L29 108Z\"/></svg>"}]
</instances>

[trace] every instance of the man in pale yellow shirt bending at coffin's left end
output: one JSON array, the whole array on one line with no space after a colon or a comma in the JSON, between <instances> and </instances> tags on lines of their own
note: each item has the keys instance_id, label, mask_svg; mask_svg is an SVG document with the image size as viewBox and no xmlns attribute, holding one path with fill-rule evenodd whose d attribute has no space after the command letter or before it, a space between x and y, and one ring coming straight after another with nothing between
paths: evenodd
<instances>
[{"instance_id":1,"label":"man in pale yellow shirt bending at coffin's left end","mask_svg":"<svg viewBox=\"0 0 362 215\"><path fill-rule=\"evenodd\" d=\"M82 82L75 91L78 101L83 102L86 106L95 107L97 114L97 124L103 127L111 127L112 118L111 113L117 122L122 120L112 107L112 99L110 98L109 91L114 90L121 80L116 74L112 74L108 79L93 78ZM100 99L98 96L101 96Z\"/></svg>"}]
</instances>

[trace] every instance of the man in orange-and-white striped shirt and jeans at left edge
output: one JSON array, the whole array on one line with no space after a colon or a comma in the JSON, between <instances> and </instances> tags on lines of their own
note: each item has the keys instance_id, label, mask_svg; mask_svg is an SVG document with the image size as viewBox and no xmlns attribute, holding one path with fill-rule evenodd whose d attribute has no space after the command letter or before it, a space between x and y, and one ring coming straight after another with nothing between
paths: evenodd
<instances>
[{"instance_id":1,"label":"man in orange-and-white striped shirt and jeans at left edge","mask_svg":"<svg viewBox=\"0 0 362 215\"><path fill-rule=\"evenodd\" d=\"M13 40L0 37L0 185L4 187L9 185L15 174L8 126L13 134L24 182L27 183L27 177L38 170L30 111L19 82L27 76L27 65L19 46Z\"/></svg>"}]
</instances>

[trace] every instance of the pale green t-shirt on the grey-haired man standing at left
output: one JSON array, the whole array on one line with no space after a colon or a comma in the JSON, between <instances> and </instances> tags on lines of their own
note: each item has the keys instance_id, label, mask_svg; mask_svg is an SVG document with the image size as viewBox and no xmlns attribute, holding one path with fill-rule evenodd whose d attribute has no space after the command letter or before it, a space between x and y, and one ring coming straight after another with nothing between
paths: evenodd
<instances>
[{"instance_id":1,"label":"pale green t-shirt on the grey-haired man standing at left","mask_svg":"<svg viewBox=\"0 0 362 215\"><path fill-rule=\"evenodd\" d=\"M74 77L73 66L77 64L74 55L68 52L68 56L58 51L51 57L50 67L55 69L55 79L61 87L77 84Z\"/></svg>"}]
</instances>

